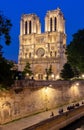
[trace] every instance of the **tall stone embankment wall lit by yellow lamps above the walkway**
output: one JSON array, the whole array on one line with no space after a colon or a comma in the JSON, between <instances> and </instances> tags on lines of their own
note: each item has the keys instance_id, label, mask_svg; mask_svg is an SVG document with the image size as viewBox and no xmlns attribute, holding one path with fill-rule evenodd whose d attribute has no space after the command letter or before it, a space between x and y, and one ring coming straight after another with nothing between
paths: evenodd
<instances>
[{"instance_id":1,"label":"tall stone embankment wall lit by yellow lamps above the walkway","mask_svg":"<svg viewBox=\"0 0 84 130\"><path fill-rule=\"evenodd\" d=\"M0 91L0 124L84 99L84 81L16 81Z\"/></svg>"}]
</instances>

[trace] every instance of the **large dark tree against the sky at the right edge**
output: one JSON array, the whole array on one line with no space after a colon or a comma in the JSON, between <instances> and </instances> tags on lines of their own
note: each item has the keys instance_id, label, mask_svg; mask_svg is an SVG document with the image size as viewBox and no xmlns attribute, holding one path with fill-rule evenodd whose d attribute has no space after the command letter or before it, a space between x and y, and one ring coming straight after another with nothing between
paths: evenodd
<instances>
[{"instance_id":1,"label":"large dark tree against the sky at the right edge","mask_svg":"<svg viewBox=\"0 0 84 130\"><path fill-rule=\"evenodd\" d=\"M67 46L67 59L73 68L84 73L84 29L73 34L73 39Z\"/></svg>"}]
</instances>

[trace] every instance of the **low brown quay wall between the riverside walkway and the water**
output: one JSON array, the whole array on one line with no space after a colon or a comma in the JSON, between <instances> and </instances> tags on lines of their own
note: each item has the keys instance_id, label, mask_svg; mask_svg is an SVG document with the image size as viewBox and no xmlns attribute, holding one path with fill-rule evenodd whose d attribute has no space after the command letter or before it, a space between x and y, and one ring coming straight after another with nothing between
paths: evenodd
<instances>
[{"instance_id":1,"label":"low brown quay wall between the riverside walkway and the water","mask_svg":"<svg viewBox=\"0 0 84 130\"><path fill-rule=\"evenodd\" d=\"M84 116L84 105L46 119L23 130L59 130Z\"/></svg>"}]
</instances>

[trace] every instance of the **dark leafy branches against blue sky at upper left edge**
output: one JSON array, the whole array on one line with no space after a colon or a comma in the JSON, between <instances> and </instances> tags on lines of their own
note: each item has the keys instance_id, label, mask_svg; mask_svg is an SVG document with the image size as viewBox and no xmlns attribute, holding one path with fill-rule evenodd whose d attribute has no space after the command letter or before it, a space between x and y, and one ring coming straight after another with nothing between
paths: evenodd
<instances>
[{"instance_id":1,"label":"dark leafy branches against blue sky at upper left edge","mask_svg":"<svg viewBox=\"0 0 84 130\"><path fill-rule=\"evenodd\" d=\"M10 20L0 12L0 37L4 36L6 45L9 45L11 42L10 37L11 27L12 24Z\"/></svg>"}]
</instances>

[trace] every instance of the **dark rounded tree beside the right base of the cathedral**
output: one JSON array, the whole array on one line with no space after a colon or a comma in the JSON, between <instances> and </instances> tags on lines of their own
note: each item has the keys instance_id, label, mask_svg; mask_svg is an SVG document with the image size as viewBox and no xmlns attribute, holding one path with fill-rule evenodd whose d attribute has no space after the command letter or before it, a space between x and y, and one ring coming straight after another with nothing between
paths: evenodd
<instances>
[{"instance_id":1,"label":"dark rounded tree beside the right base of the cathedral","mask_svg":"<svg viewBox=\"0 0 84 130\"><path fill-rule=\"evenodd\" d=\"M74 77L74 72L69 63L65 63L63 69L61 70L60 77L69 80Z\"/></svg>"}]
</instances>

